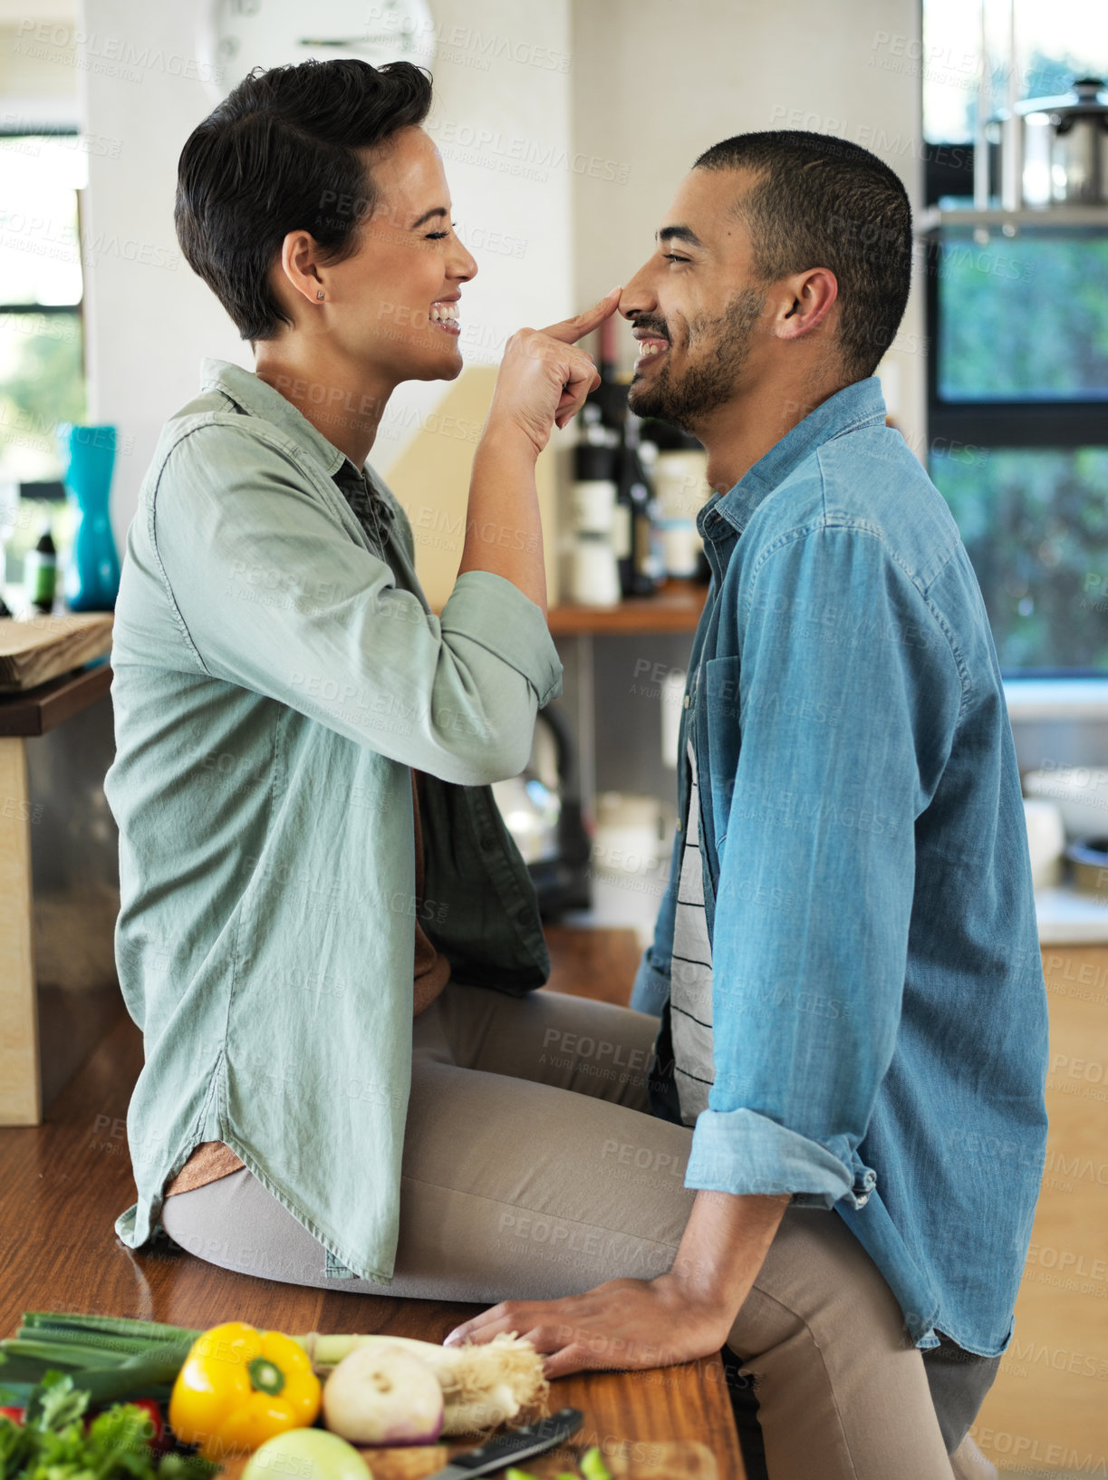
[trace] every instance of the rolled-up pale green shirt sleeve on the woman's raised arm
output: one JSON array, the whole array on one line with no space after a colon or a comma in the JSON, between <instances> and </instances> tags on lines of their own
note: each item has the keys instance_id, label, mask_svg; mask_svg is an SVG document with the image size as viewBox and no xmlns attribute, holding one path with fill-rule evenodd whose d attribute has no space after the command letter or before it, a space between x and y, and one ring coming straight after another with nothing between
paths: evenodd
<instances>
[{"instance_id":1,"label":"rolled-up pale green shirt sleeve on the woman's raised arm","mask_svg":"<svg viewBox=\"0 0 1108 1480\"><path fill-rule=\"evenodd\" d=\"M509 580L467 571L442 616L429 613L256 423L183 435L148 518L203 672L447 781L527 764L561 662L541 610Z\"/></svg>"}]
</instances>

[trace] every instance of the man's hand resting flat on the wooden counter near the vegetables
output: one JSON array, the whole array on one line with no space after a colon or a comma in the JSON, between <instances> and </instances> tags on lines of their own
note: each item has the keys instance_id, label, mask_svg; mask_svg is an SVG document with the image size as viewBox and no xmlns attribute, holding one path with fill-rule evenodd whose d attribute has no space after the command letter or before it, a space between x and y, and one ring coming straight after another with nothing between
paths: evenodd
<instances>
[{"instance_id":1,"label":"man's hand resting flat on the wooden counter near the vegetables","mask_svg":"<svg viewBox=\"0 0 1108 1480\"><path fill-rule=\"evenodd\" d=\"M491 1341L515 1331L546 1356L547 1378L589 1368L669 1368L719 1351L737 1311L669 1273L652 1280L607 1280L564 1299L509 1299L447 1336Z\"/></svg>"}]
</instances>

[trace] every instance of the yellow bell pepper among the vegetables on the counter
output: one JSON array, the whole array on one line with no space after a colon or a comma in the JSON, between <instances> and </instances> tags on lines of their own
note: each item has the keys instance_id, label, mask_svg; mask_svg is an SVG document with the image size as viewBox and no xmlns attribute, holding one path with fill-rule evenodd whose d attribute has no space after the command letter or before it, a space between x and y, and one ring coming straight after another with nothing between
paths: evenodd
<instances>
[{"instance_id":1,"label":"yellow bell pepper among the vegetables on the counter","mask_svg":"<svg viewBox=\"0 0 1108 1480\"><path fill-rule=\"evenodd\" d=\"M308 1353L291 1336L228 1320L189 1348L173 1384L169 1424L206 1459L222 1461L228 1453L253 1453L286 1430L306 1428L320 1412L320 1397Z\"/></svg>"}]
</instances>

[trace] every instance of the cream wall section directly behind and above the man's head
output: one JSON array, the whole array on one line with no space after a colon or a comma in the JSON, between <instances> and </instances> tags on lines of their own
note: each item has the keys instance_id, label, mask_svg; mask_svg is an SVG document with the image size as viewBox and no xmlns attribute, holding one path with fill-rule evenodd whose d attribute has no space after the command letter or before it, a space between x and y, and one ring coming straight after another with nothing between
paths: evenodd
<instances>
[{"instance_id":1,"label":"cream wall section directly behind and above the man's head","mask_svg":"<svg viewBox=\"0 0 1108 1480\"><path fill-rule=\"evenodd\" d=\"M692 160L757 129L811 129L882 155L922 198L919 78L888 67L889 36L919 36L919 0L574 0L580 151L626 184L574 176L578 296L626 283ZM925 435L923 295L880 374L916 451ZM623 333L630 367L630 336Z\"/></svg>"}]
</instances>

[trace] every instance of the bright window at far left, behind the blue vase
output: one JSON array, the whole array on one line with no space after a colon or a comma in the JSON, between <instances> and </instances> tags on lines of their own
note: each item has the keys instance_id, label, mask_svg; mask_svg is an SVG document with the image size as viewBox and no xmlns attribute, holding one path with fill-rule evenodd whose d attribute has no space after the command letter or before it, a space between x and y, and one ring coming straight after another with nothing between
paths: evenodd
<instances>
[{"instance_id":1,"label":"bright window at far left, behind the blue vase","mask_svg":"<svg viewBox=\"0 0 1108 1480\"><path fill-rule=\"evenodd\" d=\"M0 132L0 481L22 490L6 540L10 582L22 579L44 521L68 543L55 428L84 419L78 191L86 179L75 132Z\"/></svg>"}]
</instances>

